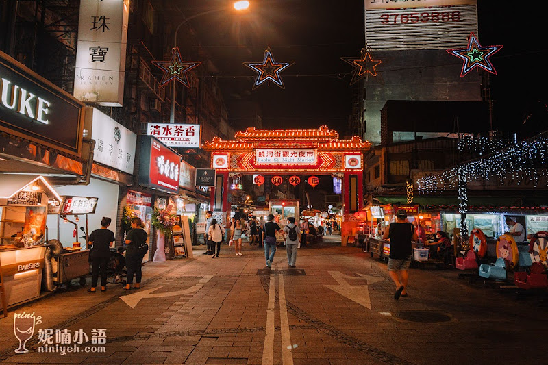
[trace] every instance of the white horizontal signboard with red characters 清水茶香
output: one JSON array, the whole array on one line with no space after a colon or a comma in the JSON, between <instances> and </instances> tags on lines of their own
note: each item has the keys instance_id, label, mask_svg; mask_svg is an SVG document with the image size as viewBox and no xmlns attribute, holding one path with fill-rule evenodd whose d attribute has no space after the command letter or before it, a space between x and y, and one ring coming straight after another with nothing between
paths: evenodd
<instances>
[{"instance_id":1,"label":"white horizontal signboard with red characters \u6e05\u6c34\u8336\u9999","mask_svg":"<svg viewBox=\"0 0 548 365\"><path fill-rule=\"evenodd\" d=\"M149 123L147 134L167 147L200 147L199 124Z\"/></svg>"}]
</instances>

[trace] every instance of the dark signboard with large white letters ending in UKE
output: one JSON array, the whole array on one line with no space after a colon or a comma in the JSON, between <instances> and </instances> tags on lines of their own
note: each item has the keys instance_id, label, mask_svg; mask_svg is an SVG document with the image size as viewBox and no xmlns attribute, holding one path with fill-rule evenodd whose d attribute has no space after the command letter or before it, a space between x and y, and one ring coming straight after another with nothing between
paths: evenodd
<instances>
[{"instance_id":1,"label":"dark signboard with large white letters ending in UKE","mask_svg":"<svg viewBox=\"0 0 548 365\"><path fill-rule=\"evenodd\" d=\"M0 131L79 156L84 104L0 51Z\"/></svg>"}]
</instances>

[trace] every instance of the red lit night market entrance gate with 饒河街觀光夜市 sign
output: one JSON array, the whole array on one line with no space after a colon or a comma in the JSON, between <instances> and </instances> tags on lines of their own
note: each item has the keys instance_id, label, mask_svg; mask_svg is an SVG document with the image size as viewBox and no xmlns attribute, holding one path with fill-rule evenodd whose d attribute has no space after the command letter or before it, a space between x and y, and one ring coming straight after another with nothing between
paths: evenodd
<instances>
[{"instance_id":1,"label":"red lit night market entrance gate with \u9952\u6cb3\u8857\u89c0\u5149\u591c\u5e02 sign","mask_svg":"<svg viewBox=\"0 0 548 365\"><path fill-rule=\"evenodd\" d=\"M363 153L371 147L369 142L362 142L358 136L339 140L338 133L325 125L287 130L249 127L234 137L236 140L215 137L203 144L203 149L211 152L211 167L216 170L215 187L210 193L214 212L230 216L229 178L236 174L276 175L273 179L278 181L273 184L292 175L333 175L343 180L343 221L362 209Z\"/></svg>"}]
</instances>

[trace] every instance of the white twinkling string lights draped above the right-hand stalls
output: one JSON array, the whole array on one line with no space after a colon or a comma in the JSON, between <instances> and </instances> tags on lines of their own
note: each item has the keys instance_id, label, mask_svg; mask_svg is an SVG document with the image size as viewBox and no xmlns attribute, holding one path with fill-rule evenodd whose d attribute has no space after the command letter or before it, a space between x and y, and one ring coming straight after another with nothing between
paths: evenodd
<instances>
[{"instance_id":1,"label":"white twinkling string lights draped above the right-hand stalls","mask_svg":"<svg viewBox=\"0 0 548 365\"><path fill-rule=\"evenodd\" d=\"M538 186L541 178L547 184L548 132L530 138L501 151L485 155L470 162L457 165L442 173L421 177L416 180L419 194L443 192L458 187L459 179L467 184L475 181L500 183L511 177L520 185L525 177Z\"/></svg>"}]
</instances>

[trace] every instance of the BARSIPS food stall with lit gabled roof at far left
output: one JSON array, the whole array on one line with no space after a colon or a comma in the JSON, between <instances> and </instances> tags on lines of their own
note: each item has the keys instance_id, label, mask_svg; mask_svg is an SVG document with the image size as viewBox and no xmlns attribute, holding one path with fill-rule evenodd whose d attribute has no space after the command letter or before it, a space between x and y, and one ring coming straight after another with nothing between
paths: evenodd
<instances>
[{"instance_id":1,"label":"BARSIPS food stall with lit gabled roof at far left","mask_svg":"<svg viewBox=\"0 0 548 365\"><path fill-rule=\"evenodd\" d=\"M40 296L47 207L61 202L40 175L0 175L0 270L8 306Z\"/></svg>"}]
</instances>

